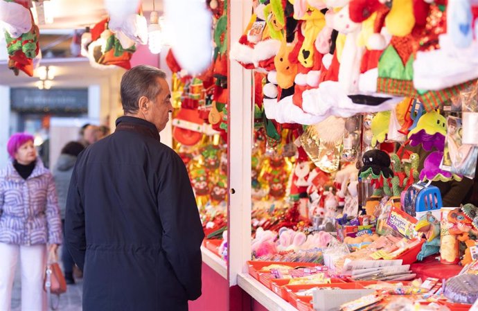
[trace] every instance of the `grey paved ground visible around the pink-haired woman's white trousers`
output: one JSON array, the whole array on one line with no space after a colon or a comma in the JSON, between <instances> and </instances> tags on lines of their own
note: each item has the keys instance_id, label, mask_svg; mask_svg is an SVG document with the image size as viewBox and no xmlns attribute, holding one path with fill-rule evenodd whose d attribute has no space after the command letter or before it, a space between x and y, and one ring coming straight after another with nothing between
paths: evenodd
<instances>
[{"instance_id":1,"label":"grey paved ground visible around the pink-haired woman's white trousers","mask_svg":"<svg viewBox=\"0 0 478 311\"><path fill-rule=\"evenodd\" d=\"M12 311L21 311L21 277L19 267L15 276L12 293ZM75 285L68 285L67 292L60 296L60 306L57 311L81 311L82 280L76 281ZM54 298L56 299L56 298Z\"/></svg>"}]
</instances>

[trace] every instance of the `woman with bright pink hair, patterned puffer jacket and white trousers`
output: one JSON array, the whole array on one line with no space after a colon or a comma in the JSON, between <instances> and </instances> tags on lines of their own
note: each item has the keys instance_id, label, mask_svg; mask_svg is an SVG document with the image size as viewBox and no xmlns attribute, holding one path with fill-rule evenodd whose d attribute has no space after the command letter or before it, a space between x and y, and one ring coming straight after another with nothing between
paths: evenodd
<instances>
[{"instance_id":1,"label":"woman with bright pink hair, patterned puffer jacket and white trousers","mask_svg":"<svg viewBox=\"0 0 478 311\"><path fill-rule=\"evenodd\" d=\"M63 236L55 182L33 136L13 134L7 150L11 161L0 172L0 310L10 310L20 263L21 310L45 311L46 251L54 255Z\"/></svg>"}]
</instances>

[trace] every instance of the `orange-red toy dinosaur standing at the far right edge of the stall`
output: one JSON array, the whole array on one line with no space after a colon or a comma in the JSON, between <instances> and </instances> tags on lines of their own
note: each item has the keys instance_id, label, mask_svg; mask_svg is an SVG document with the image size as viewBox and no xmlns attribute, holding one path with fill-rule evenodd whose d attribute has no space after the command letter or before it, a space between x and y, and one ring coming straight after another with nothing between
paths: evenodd
<instances>
[{"instance_id":1,"label":"orange-red toy dinosaur standing at the far right edge of the stall","mask_svg":"<svg viewBox=\"0 0 478 311\"><path fill-rule=\"evenodd\" d=\"M475 240L478 236L478 229L475 226L475 223L478 222L477 210L476 206L466 204L461 208L455 208L448 214L448 221L453 224L448 231L450 234L456 235L457 239L466 245L465 255L461 260L463 266L472 262L470 247L476 245Z\"/></svg>"}]
</instances>

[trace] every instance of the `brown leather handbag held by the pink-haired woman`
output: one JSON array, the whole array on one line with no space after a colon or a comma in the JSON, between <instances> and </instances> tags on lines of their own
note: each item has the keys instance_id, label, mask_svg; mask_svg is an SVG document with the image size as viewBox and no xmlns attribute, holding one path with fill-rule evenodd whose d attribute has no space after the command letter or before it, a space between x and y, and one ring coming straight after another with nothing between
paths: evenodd
<instances>
[{"instance_id":1,"label":"brown leather handbag held by the pink-haired woman","mask_svg":"<svg viewBox=\"0 0 478 311\"><path fill-rule=\"evenodd\" d=\"M54 256L54 257L53 257ZM56 254L49 256L49 258L57 258ZM67 292L67 281L65 281L62 269L58 265L57 260L50 261L46 265L44 286L43 286L48 299L48 304L51 310L57 310L60 304L60 294ZM53 303L53 296L57 296L57 303Z\"/></svg>"}]
</instances>

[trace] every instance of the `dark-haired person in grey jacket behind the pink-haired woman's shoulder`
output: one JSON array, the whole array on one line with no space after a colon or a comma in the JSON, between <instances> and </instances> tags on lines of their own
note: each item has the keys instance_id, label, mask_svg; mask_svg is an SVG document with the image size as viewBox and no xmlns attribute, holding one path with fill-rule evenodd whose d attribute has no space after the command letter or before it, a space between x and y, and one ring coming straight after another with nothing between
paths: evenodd
<instances>
[{"instance_id":1,"label":"dark-haired person in grey jacket behind the pink-haired woman's shoulder","mask_svg":"<svg viewBox=\"0 0 478 311\"><path fill-rule=\"evenodd\" d=\"M85 150L84 145L77 141L70 141L62 148L60 157L58 157L55 168L53 168L53 177L55 179L58 205L60 206L60 215L62 217L63 226L71 172L73 172L73 166L75 166L78 154L83 150ZM62 263L64 278L67 281L67 284L75 284L75 279L73 278L73 258L71 258L66 245L62 247Z\"/></svg>"}]
</instances>

